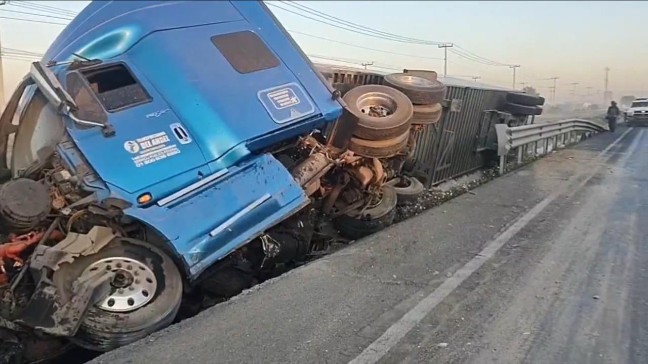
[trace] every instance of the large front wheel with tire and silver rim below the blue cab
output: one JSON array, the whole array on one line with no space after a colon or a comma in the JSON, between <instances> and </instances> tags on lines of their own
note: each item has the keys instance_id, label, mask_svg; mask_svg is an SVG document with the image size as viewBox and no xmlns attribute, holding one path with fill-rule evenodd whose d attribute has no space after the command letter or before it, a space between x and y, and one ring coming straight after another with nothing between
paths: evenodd
<instances>
[{"instance_id":1,"label":"large front wheel with tire and silver rim below the blue cab","mask_svg":"<svg viewBox=\"0 0 648 364\"><path fill-rule=\"evenodd\" d=\"M75 280L105 269L114 273L108 297L88 308L76 345L109 351L160 330L175 319L182 298L178 267L163 251L145 242L115 238L97 254L62 264L53 281L65 302Z\"/></svg>"}]
</instances>

